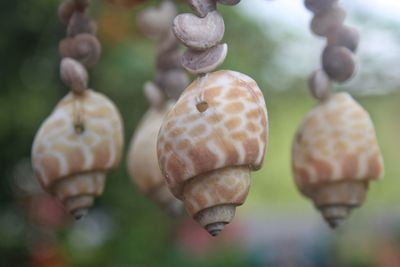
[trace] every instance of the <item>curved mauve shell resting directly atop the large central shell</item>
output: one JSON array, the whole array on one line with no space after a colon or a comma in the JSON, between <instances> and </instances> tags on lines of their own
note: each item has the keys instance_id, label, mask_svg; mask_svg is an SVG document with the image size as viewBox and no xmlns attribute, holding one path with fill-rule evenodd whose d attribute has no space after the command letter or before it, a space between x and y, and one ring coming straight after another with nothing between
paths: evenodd
<instances>
[{"instance_id":1,"label":"curved mauve shell resting directly atop the large central shell","mask_svg":"<svg viewBox=\"0 0 400 267\"><path fill-rule=\"evenodd\" d=\"M224 63L227 53L227 44L217 45L205 51L188 49L183 54L182 66L192 74L211 72Z\"/></svg>"}]
</instances>

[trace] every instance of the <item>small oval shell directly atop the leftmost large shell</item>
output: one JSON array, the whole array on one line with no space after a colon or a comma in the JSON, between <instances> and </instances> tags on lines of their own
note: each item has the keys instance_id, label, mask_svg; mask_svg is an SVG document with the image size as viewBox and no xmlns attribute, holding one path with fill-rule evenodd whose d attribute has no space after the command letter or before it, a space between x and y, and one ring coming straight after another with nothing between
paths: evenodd
<instances>
[{"instance_id":1,"label":"small oval shell directly atop the leftmost large shell","mask_svg":"<svg viewBox=\"0 0 400 267\"><path fill-rule=\"evenodd\" d=\"M88 86L89 76L85 67L72 58L61 60L60 75L63 82L76 94L83 93Z\"/></svg>"}]
</instances>

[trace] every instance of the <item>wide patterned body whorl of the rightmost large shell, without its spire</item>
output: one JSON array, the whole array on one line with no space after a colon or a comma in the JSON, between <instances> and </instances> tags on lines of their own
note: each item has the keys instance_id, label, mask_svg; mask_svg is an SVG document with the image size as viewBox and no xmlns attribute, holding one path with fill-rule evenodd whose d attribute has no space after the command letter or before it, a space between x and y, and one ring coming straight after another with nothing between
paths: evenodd
<instances>
[{"instance_id":1,"label":"wide patterned body whorl of the rightmost large shell, without its spire","mask_svg":"<svg viewBox=\"0 0 400 267\"><path fill-rule=\"evenodd\" d=\"M347 93L338 93L305 118L293 143L296 184L373 180L383 176L383 159L369 114Z\"/></svg>"}]
</instances>

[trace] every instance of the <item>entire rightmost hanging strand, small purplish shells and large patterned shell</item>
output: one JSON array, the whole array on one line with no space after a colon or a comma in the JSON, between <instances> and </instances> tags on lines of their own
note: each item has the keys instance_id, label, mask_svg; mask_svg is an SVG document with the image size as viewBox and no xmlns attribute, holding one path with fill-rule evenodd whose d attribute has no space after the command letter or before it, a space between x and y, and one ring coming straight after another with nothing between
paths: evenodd
<instances>
[{"instance_id":1,"label":"entire rightmost hanging strand, small purplish shells and large patterned shell","mask_svg":"<svg viewBox=\"0 0 400 267\"><path fill-rule=\"evenodd\" d=\"M329 93L332 81L347 81L355 71L357 31L343 25L346 14L337 0L305 0L305 5L314 13L312 31L326 37L327 46L322 69L309 83L319 104L297 131L292 165L299 190L336 228L362 205L369 182L383 176L383 159L367 111L348 93Z\"/></svg>"}]
</instances>

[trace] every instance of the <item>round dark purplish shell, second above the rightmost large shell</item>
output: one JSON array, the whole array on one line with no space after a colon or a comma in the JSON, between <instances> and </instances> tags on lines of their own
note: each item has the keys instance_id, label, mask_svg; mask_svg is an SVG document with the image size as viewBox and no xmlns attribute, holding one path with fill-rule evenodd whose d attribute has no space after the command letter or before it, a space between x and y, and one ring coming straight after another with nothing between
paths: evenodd
<instances>
[{"instance_id":1,"label":"round dark purplish shell, second above the rightmost large shell","mask_svg":"<svg viewBox=\"0 0 400 267\"><path fill-rule=\"evenodd\" d=\"M334 81L345 82L351 78L356 64L351 51L343 46L328 46L322 54L322 66Z\"/></svg>"}]
</instances>

